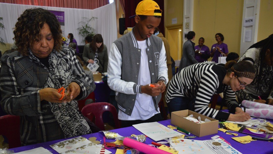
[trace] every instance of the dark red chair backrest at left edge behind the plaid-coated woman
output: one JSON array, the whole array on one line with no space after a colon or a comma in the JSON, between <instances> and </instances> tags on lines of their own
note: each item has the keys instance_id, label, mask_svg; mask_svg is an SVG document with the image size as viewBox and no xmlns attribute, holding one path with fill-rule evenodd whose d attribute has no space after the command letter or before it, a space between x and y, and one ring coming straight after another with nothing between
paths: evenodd
<instances>
[{"instance_id":1,"label":"dark red chair backrest at left edge behind the plaid-coated woman","mask_svg":"<svg viewBox=\"0 0 273 154\"><path fill-rule=\"evenodd\" d=\"M4 115L0 117L0 135L7 138L9 148L21 146L20 116Z\"/></svg>"}]
</instances>

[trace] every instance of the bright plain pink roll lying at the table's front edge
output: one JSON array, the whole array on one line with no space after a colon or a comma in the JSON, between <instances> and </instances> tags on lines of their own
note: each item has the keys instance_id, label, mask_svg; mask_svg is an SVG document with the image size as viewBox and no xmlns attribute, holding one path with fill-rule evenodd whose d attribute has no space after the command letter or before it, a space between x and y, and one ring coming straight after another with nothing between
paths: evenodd
<instances>
[{"instance_id":1,"label":"bright plain pink roll lying at the table's front edge","mask_svg":"<svg viewBox=\"0 0 273 154\"><path fill-rule=\"evenodd\" d=\"M170 152L163 151L161 149L149 146L147 144L138 142L136 140L133 140L131 138L124 138L123 144L127 147L137 149L141 152L144 152L146 154L171 154Z\"/></svg>"}]
</instances>

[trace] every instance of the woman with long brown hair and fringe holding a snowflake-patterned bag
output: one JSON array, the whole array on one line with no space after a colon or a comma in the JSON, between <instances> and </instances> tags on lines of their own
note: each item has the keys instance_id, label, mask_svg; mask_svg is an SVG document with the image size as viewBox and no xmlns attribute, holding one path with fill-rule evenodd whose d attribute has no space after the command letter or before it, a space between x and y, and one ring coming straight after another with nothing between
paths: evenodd
<instances>
[{"instance_id":1,"label":"woman with long brown hair and fringe holding a snowflake-patterned bag","mask_svg":"<svg viewBox=\"0 0 273 154\"><path fill-rule=\"evenodd\" d=\"M83 60L88 63L97 63L99 68L97 71L100 73L107 72L108 68L108 52L107 47L103 44L101 34L96 34L89 44L85 44L83 49Z\"/></svg>"}]
</instances>

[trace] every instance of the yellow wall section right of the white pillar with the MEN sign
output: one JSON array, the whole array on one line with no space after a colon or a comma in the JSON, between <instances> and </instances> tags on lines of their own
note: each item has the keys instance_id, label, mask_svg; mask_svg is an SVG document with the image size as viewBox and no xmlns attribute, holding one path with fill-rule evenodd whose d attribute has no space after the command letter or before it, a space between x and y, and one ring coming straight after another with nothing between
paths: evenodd
<instances>
[{"instance_id":1,"label":"yellow wall section right of the white pillar with the MEN sign","mask_svg":"<svg viewBox=\"0 0 273 154\"><path fill-rule=\"evenodd\" d=\"M271 34L273 34L273 0L261 0L257 41Z\"/></svg>"}]
</instances>

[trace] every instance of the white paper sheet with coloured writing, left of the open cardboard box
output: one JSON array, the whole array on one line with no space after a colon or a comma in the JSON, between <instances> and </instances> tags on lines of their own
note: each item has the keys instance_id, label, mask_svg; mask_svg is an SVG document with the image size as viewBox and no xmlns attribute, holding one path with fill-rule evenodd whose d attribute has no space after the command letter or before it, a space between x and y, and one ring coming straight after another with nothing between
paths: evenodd
<instances>
[{"instance_id":1,"label":"white paper sheet with coloured writing, left of the open cardboard box","mask_svg":"<svg viewBox=\"0 0 273 154\"><path fill-rule=\"evenodd\" d=\"M133 127L154 141L160 141L164 138L172 138L181 135L181 133L159 124L158 122L135 124Z\"/></svg>"}]
</instances>

